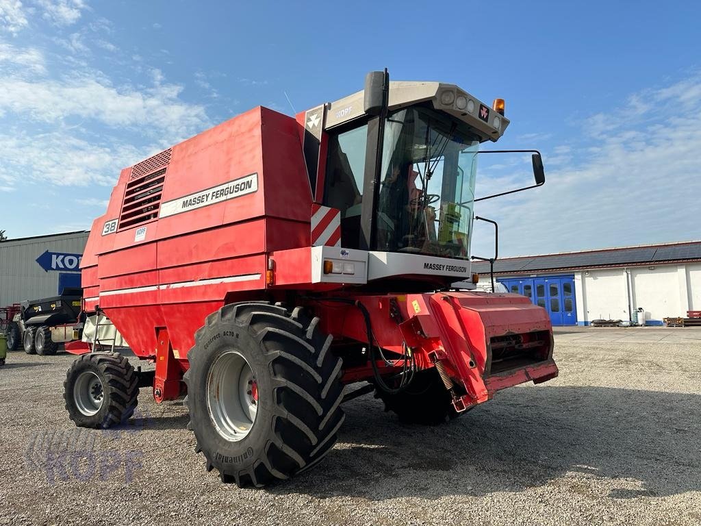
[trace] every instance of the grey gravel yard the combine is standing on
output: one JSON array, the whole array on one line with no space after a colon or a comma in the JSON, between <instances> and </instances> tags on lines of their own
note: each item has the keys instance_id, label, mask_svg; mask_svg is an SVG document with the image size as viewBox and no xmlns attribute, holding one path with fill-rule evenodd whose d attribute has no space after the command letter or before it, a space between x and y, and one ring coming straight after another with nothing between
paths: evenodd
<instances>
[{"instance_id":1,"label":"grey gravel yard the combine is standing on","mask_svg":"<svg viewBox=\"0 0 701 526\"><path fill-rule=\"evenodd\" d=\"M559 378L435 428L358 398L324 463L266 490L205 471L181 402L144 390L130 426L79 430L62 402L73 357L10 353L0 524L697 526L701 330L669 331L559 331Z\"/></svg>"}]
</instances>

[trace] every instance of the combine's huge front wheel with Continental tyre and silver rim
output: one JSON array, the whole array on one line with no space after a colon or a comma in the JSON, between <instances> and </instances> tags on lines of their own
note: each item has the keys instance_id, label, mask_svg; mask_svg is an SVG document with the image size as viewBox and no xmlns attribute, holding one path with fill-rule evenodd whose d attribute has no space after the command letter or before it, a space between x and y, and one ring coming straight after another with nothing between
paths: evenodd
<instances>
[{"instance_id":1,"label":"combine's huge front wheel with Continental tyre and silver rim","mask_svg":"<svg viewBox=\"0 0 701 526\"><path fill-rule=\"evenodd\" d=\"M310 468L343 424L341 360L319 318L268 303L239 303L207 316L184 375L189 429L207 471L264 486Z\"/></svg>"}]
</instances>

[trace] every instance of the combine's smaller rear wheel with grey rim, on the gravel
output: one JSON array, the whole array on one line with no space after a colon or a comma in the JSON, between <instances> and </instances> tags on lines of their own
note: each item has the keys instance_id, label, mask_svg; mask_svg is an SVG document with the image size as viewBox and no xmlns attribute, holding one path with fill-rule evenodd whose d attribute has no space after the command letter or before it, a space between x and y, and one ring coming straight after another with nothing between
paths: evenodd
<instances>
[{"instance_id":1,"label":"combine's smaller rear wheel with grey rim, on the gravel","mask_svg":"<svg viewBox=\"0 0 701 526\"><path fill-rule=\"evenodd\" d=\"M107 429L134 414L139 375L119 353L83 354L69 367L63 388L76 426Z\"/></svg>"}]
</instances>

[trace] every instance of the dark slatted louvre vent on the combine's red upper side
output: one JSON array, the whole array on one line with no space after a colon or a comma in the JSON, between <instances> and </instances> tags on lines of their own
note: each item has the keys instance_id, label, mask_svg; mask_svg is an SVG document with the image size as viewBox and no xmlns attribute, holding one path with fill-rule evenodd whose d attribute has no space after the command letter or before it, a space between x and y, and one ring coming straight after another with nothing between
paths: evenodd
<instances>
[{"instance_id":1,"label":"dark slatted louvre vent on the combine's red upper side","mask_svg":"<svg viewBox=\"0 0 701 526\"><path fill-rule=\"evenodd\" d=\"M127 183L119 215L119 230L135 227L158 217L166 170L167 168L161 168L136 179L132 177Z\"/></svg>"}]
</instances>

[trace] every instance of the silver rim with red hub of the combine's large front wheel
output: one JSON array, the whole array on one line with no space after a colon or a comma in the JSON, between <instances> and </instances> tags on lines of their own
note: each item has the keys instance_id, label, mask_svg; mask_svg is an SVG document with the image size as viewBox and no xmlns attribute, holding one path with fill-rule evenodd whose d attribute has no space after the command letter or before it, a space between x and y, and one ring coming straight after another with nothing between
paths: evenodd
<instances>
[{"instance_id":1,"label":"silver rim with red hub of the combine's large front wheel","mask_svg":"<svg viewBox=\"0 0 701 526\"><path fill-rule=\"evenodd\" d=\"M250 432L258 408L258 383L246 359L226 351L207 378L207 410L222 438L238 442Z\"/></svg>"}]
</instances>

